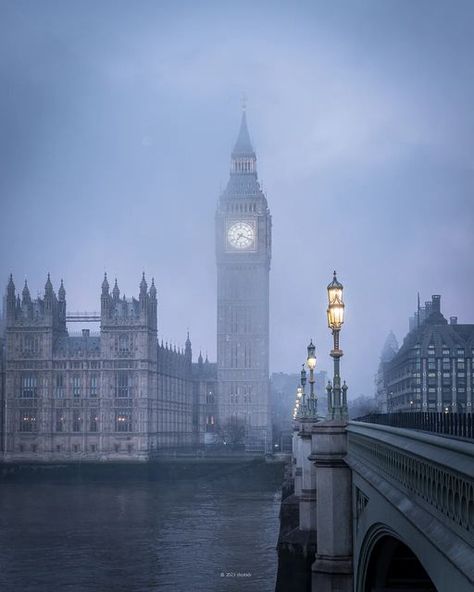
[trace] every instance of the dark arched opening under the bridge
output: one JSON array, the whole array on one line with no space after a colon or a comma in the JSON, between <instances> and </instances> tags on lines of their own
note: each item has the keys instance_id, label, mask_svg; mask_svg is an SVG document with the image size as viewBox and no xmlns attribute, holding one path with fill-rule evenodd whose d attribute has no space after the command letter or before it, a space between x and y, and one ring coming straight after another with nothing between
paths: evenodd
<instances>
[{"instance_id":1,"label":"dark arched opening under the bridge","mask_svg":"<svg viewBox=\"0 0 474 592\"><path fill-rule=\"evenodd\" d=\"M384 524L374 525L362 543L356 590L436 592L429 574L414 551Z\"/></svg>"}]
</instances>

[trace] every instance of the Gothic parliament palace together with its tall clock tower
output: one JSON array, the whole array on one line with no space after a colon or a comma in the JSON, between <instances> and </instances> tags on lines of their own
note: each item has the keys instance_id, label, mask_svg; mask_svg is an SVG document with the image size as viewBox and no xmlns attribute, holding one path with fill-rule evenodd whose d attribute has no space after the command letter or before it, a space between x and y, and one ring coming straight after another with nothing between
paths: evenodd
<instances>
[{"instance_id":1,"label":"Gothic parliament palace together with its tall clock tower","mask_svg":"<svg viewBox=\"0 0 474 592\"><path fill-rule=\"evenodd\" d=\"M158 341L157 289L145 275L129 299L105 275L99 335L69 333L77 319L62 281L55 291L48 275L32 299L10 276L0 333L3 460L146 461L228 444L232 427L242 447L267 450L270 257L271 217L244 110L216 212L216 363L193 361L189 334L182 350Z\"/></svg>"}]
</instances>

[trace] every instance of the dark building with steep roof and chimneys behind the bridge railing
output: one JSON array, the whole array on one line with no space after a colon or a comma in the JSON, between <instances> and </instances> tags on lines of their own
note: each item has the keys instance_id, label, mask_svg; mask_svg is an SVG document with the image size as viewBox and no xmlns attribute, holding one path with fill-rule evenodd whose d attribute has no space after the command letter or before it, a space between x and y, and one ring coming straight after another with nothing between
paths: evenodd
<instances>
[{"instance_id":1,"label":"dark building with steep roof and chimneys behind the bridge railing","mask_svg":"<svg viewBox=\"0 0 474 592\"><path fill-rule=\"evenodd\" d=\"M388 411L471 412L474 325L445 319L441 297L410 319L410 332L384 364Z\"/></svg>"}]
</instances>

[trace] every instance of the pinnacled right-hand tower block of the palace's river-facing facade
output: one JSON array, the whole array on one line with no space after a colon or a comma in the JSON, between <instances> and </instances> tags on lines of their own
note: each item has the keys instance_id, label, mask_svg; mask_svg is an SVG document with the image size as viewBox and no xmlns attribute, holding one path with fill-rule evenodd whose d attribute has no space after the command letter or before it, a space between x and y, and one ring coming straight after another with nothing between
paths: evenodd
<instances>
[{"instance_id":1,"label":"pinnacled right-hand tower block of the palace's river-facing facade","mask_svg":"<svg viewBox=\"0 0 474 592\"><path fill-rule=\"evenodd\" d=\"M127 300L120 297L117 280L110 292L105 277L100 301L102 438L110 434L104 445L146 456L156 445L157 431L156 288L152 283L148 290L143 276L138 300Z\"/></svg>"}]
</instances>

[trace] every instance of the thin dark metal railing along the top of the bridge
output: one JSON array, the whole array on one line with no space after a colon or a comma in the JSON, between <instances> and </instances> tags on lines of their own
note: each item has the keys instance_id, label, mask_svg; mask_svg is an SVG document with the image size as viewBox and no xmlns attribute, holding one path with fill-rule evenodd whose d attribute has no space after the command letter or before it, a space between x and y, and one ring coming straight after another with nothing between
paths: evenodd
<instances>
[{"instance_id":1,"label":"thin dark metal railing along the top of the bridge","mask_svg":"<svg viewBox=\"0 0 474 592\"><path fill-rule=\"evenodd\" d=\"M472 413L437 413L433 411L370 413L364 417L358 417L355 421L474 440L474 416Z\"/></svg>"}]
</instances>

